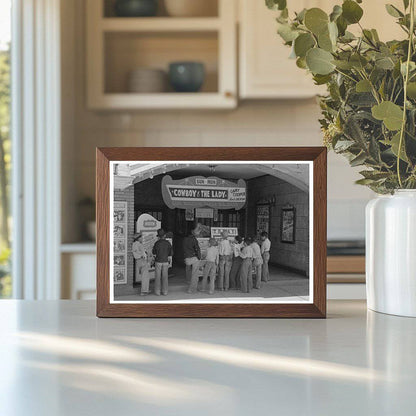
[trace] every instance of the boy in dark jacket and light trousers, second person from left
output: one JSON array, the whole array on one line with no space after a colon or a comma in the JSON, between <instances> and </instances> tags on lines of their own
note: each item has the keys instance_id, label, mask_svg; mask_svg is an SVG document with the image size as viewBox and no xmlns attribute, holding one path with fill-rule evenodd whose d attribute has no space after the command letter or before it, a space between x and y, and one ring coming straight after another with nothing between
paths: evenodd
<instances>
[{"instance_id":1,"label":"boy in dark jacket and light trousers, second person from left","mask_svg":"<svg viewBox=\"0 0 416 416\"><path fill-rule=\"evenodd\" d=\"M155 256L155 294L160 296L168 294L168 270L172 265L172 245L166 240L166 233L160 229L157 231L158 240L153 246L153 254Z\"/></svg>"}]
</instances>

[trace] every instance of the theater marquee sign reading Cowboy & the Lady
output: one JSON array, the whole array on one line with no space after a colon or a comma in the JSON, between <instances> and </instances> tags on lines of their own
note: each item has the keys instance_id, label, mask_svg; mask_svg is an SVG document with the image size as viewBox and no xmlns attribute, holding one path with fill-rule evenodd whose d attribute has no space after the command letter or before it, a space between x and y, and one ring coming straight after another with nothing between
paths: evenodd
<instances>
[{"instance_id":1,"label":"theater marquee sign reading Cowboy & the Lady","mask_svg":"<svg viewBox=\"0 0 416 416\"><path fill-rule=\"evenodd\" d=\"M162 196L165 204L173 208L202 208L236 210L246 203L246 183L203 176L174 180L169 175L162 179Z\"/></svg>"}]
</instances>

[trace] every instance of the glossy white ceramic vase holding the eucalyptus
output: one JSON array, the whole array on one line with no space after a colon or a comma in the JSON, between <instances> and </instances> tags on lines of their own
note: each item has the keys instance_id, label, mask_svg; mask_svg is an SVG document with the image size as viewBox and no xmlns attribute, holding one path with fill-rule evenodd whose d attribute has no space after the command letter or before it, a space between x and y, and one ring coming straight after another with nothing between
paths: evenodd
<instances>
[{"instance_id":1,"label":"glossy white ceramic vase holding the eucalyptus","mask_svg":"<svg viewBox=\"0 0 416 416\"><path fill-rule=\"evenodd\" d=\"M368 203L366 281L369 309L416 317L416 190Z\"/></svg>"}]
</instances>

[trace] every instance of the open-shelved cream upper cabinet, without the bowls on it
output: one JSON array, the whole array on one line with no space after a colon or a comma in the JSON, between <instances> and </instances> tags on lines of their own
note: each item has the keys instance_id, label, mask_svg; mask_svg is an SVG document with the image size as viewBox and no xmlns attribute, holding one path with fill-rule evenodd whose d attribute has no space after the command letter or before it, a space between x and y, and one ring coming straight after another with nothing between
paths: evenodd
<instances>
[{"instance_id":1,"label":"open-shelved cream upper cabinet, without the bowls on it","mask_svg":"<svg viewBox=\"0 0 416 416\"><path fill-rule=\"evenodd\" d=\"M90 109L207 109L237 105L236 7L217 1L217 16L117 17L113 4L88 0L87 105ZM129 92L127 79L137 69L167 71L175 61L205 66L202 90L177 93Z\"/></svg>"}]
</instances>

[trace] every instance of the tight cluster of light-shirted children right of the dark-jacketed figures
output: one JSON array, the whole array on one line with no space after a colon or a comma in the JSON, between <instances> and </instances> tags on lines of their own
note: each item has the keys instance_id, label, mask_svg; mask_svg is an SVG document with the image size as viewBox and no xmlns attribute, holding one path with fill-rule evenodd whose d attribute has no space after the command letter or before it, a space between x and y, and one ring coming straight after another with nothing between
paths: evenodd
<instances>
[{"instance_id":1,"label":"tight cluster of light-shirted children right of the dark-jacketed figures","mask_svg":"<svg viewBox=\"0 0 416 416\"><path fill-rule=\"evenodd\" d=\"M227 231L223 231L219 241L210 238L201 291L207 291L208 279L209 294L214 293L215 287L219 291L237 289L244 293L250 292L253 287L260 289L261 281L269 280L270 247L267 232L260 234L259 241L237 236L231 242ZM253 271L256 277L254 284Z\"/></svg>"}]
</instances>

